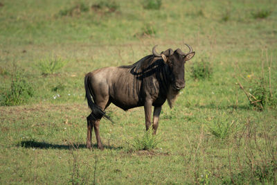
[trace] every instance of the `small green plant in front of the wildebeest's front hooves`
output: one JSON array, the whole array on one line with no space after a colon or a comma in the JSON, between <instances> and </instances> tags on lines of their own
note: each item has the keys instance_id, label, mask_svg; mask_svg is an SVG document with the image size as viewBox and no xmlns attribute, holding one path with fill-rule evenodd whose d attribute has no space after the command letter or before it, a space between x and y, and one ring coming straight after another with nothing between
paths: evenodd
<instances>
[{"instance_id":1,"label":"small green plant in front of the wildebeest's front hooves","mask_svg":"<svg viewBox=\"0 0 277 185\"><path fill-rule=\"evenodd\" d=\"M130 143L134 150L152 150L160 143L160 139L153 135L153 130L150 129L143 135L142 139L135 138L134 143Z\"/></svg>"}]
</instances>

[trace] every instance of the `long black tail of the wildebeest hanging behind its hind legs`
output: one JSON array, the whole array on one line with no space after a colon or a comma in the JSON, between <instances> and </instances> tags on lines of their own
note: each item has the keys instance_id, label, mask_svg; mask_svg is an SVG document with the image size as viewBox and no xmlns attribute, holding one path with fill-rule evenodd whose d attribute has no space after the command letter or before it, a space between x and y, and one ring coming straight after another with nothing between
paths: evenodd
<instances>
[{"instance_id":1,"label":"long black tail of the wildebeest hanging behind its hind legs","mask_svg":"<svg viewBox=\"0 0 277 185\"><path fill-rule=\"evenodd\" d=\"M91 115L95 119L104 117L104 118L107 118L109 121L114 122L111 120L111 118L109 116L106 115L106 113L104 111L102 111L101 107L99 107L98 105L96 105L93 102L92 97L94 95L93 95L93 92L91 91L91 85L89 83L89 75L86 75L84 77L84 89L86 90L87 104L89 105L89 108L91 109Z\"/></svg>"}]
</instances>

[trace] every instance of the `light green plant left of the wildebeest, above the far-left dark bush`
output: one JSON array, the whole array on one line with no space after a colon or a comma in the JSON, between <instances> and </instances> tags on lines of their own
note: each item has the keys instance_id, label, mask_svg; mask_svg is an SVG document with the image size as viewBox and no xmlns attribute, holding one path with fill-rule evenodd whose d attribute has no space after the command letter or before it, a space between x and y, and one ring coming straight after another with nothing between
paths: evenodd
<instances>
[{"instance_id":1,"label":"light green plant left of the wildebeest, above the far-left dark bush","mask_svg":"<svg viewBox=\"0 0 277 185\"><path fill-rule=\"evenodd\" d=\"M50 57L44 60L41 60L38 64L38 68L42 71L43 75L56 73L58 70L62 69L67 63L66 60L62 60L57 57Z\"/></svg>"}]
</instances>

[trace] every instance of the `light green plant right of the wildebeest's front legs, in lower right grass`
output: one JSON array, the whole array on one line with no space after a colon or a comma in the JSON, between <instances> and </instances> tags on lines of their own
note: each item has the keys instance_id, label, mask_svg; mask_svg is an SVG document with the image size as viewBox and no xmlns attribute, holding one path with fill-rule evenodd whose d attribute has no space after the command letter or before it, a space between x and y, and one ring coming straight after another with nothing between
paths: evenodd
<instances>
[{"instance_id":1,"label":"light green plant right of the wildebeest's front legs, in lower right grass","mask_svg":"<svg viewBox=\"0 0 277 185\"><path fill-rule=\"evenodd\" d=\"M223 116L222 116L223 117ZM233 126L233 122L226 120L226 119L220 119L215 118L211 125L209 126L209 130L213 136L217 139L225 139L227 136L229 136L231 132L231 127Z\"/></svg>"}]
</instances>

